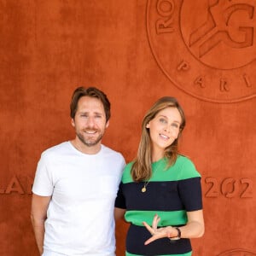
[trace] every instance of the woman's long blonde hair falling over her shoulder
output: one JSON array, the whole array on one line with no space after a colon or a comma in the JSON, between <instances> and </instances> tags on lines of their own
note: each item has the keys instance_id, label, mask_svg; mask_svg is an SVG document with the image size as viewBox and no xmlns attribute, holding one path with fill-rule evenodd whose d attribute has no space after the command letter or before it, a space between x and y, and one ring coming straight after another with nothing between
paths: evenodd
<instances>
[{"instance_id":1,"label":"woman's long blonde hair falling over her shoulder","mask_svg":"<svg viewBox=\"0 0 256 256\"><path fill-rule=\"evenodd\" d=\"M186 119L183 112L183 108L177 102L177 99L171 96L165 96L160 98L154 105L148 110L148 113L143 118L142 125L142 137L137 150L137 157L131 166L131 177L135 182L141 182L148 180L152 176L152 148L149 129L146 125L150 120L154 119L155 115L165 108L177 108L181 115L182 122L180 125L180 131L177 139L165 149L165 157L168 160L168 166L172 166L177 160L178 154L178 140L186 125Z\"/></svg>"}]
</instances>

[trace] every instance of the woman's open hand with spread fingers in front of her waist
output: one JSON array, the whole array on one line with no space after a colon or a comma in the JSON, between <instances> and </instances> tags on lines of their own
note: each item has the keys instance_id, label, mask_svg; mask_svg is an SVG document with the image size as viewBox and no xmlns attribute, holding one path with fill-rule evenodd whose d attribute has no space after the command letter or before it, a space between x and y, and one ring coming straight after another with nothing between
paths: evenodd
<instances>
[{"instance_id":1,"label":"woman's open hand with spread fingers in front of her waist","mask_svg":"<svg viewBox=\"0 0 256 256\"><path fill-rule=\"evenodd\" d=\"M149 233L152 235L147 241L145 241L145 245L148 245L148 243L155 241L160 238L164 237L175 237L177 236L177 230L172 228L172 226L168 226L165 228L157 228L157 225L160 222L160 217L155 214L152 222L152 227L149 226L146 222L143 221L143 225L146 227L146 229L149 231Z\"/></svg>"}]
</instances>

